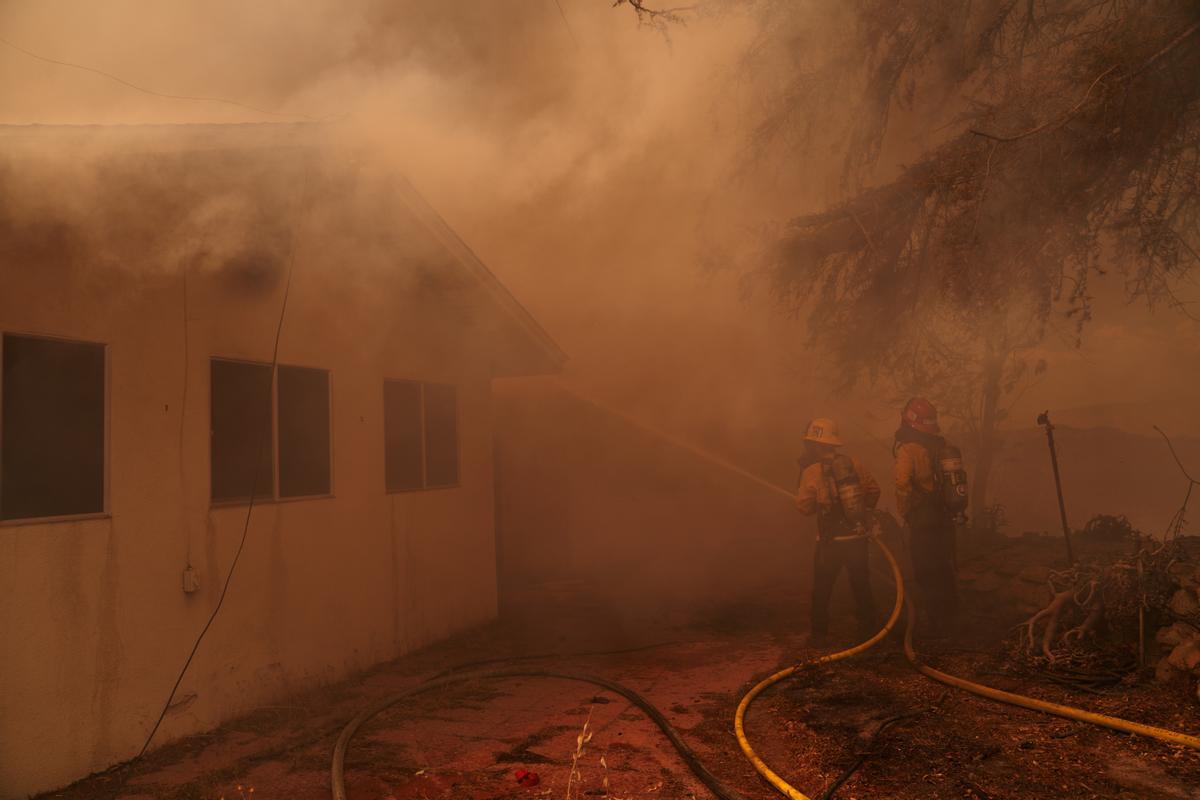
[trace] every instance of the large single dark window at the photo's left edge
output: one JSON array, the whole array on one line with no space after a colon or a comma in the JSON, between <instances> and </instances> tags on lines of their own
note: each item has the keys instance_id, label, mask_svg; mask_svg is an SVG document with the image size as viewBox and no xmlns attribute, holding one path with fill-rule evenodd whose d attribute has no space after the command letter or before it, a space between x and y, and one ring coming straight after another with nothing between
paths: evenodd
<instances>
[{"instance_id":1,"label":"large single dark window at the photo's left edge","mask_svg":"<svg viewBox=\"0 0 1200 800\"><path fill-rule=\"evenodd\" d=\"M104 511L104 345L4 336L0 517Z\"/></svg>"}]
</instances>

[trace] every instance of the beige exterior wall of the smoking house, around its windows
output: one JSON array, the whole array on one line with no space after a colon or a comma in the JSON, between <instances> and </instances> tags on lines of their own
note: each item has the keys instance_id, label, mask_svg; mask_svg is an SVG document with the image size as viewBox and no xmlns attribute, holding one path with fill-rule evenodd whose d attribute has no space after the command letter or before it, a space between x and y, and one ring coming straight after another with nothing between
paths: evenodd
<instances>
[{"instance_id":1,"label":"beige exterior wall of the smoking house, around its windows","mask_svg":"<svg viewBox=\"0 0 1200 800\"><path fill-rule=\"evenodd\" d=\"M330 371L334 497L256 505L156 745L496 614L488 367L432 354L449 323L394 287L362 294L302 259L295 275L280 362ZM185 357L179 271L0 264L0 330L102 342L109 365L109 516L0 527L0 798L140 747L246 516L209 503L209 359L270 361L282 289L190 276ZM384 492L385 378L458 385L458 488Z\"/></svg>"}]
</instances>

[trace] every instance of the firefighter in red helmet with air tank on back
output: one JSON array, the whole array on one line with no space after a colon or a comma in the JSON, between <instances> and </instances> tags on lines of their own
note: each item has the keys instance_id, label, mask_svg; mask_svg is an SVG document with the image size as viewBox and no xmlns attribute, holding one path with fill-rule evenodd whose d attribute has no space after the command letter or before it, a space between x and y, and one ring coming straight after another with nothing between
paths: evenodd
<instances>
[{"instance_id":1,"label":"firefighter in red helmet with air tank on back","mask_svg":"<svg viewBox=\"0 0 1200 800\"><path fill-rule=\"evenodd\" d=\"M955 522L966 511L962 455L947 444L937 409L913 397L895 434L896 510L908 525L918 607L937 636L949 633L958 612L954 575Z\"/></svg>"}]
</instances>

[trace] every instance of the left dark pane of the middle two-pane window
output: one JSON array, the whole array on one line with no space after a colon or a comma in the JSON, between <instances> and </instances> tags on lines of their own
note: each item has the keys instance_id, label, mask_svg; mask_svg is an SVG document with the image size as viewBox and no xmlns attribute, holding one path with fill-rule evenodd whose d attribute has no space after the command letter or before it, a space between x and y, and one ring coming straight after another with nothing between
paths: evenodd
<instances>
[{"instance_id":1,"label":"left dark pane of the middle two-pane window","mask_svg":"<svg viewBox=\"0 0 1200 800\"><path fill-rule=\"evenodd\" d=\"M248 500L251 493L270 498L275 493L271 367L218 359L211 365L212 499Z\"/></svg>"}]
</instances>

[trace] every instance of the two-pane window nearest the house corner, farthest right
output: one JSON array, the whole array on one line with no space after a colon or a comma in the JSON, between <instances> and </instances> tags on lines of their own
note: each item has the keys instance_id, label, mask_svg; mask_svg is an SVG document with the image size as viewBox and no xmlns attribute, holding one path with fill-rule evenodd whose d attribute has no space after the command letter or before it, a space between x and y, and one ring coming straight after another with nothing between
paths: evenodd
<instances>
[{"instance_id":1,"label":"two-pane window nearest the house corner, farthest right","mask_svg":"<svg viewBox=\"0 0 1200 800\"><path fill-rule=\"evenodd\" d=\"M389 492L457 486L457 389L384 381L384 449Z\"/></svg>"}]
</instances>

